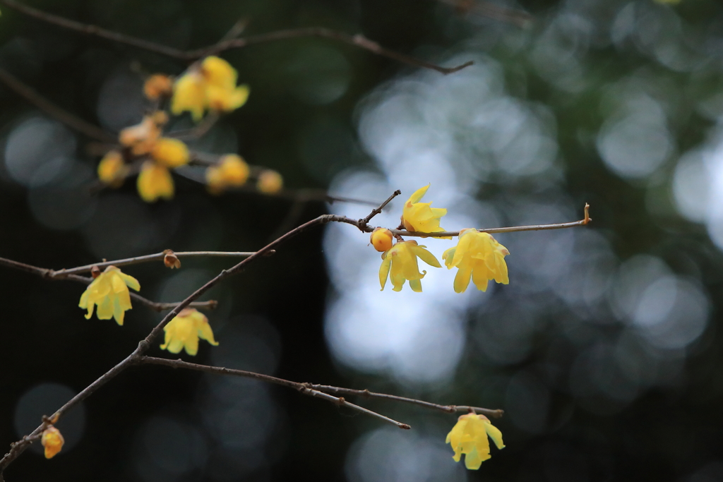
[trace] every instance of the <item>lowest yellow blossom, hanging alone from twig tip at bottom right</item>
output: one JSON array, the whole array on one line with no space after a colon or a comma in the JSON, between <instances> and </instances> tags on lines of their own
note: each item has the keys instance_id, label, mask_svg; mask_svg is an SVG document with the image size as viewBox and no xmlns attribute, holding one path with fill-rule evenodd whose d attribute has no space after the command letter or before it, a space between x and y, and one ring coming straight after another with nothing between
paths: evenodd
<instances>
[{"instance_id":1,"label":"lowest yellow blossom, hanging alone from twig tip at bottom right","mask_svg":"<svg viewBox=\"0 0 723 482\"><path fill-rule=\"evenodd\" d=\"M489 418L476 413L468 413L458 418L457 423L447 434L446 443L452 444L453 458L459 462L462 454L464 465L470 470L477 470L482 462L489 459L489 440L495 442L498 449L504 449L502 432L489 423Z\"/></svg>"}]
</instances>

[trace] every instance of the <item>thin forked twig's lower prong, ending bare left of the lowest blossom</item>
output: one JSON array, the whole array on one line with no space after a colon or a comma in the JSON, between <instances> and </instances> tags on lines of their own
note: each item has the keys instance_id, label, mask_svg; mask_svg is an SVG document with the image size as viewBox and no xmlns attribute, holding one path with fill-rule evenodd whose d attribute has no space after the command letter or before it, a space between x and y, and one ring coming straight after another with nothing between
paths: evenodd
<instances>
[{"instance_id":1,"label":"thin forked twig's lower prong, ending bare left of the lowest blossom","mask_svg":"<svg viewBox=\"0 0 723 482\"><path fill-rule=\"evenodd\" d=\"M380 420L383 420L385 422L398 426L400 429L411 429L411 426L408 426L408 424L406 424L406 423L401 423L401 422L395 421L392 418L381 415L380 413L374 412L374 411L369 410L364 407L360 407L359 405L354 405L354 403L349 403L346 400L344 400L343 397L334 397L333 395L329 395L328 393L325 393L321 390L315 390L314 388L310 388L307 384L291 382L290 380L277 378L275 376L254 373L253 371L226 369L226 368L222 368L220 366L199 365L197 363L188 363L188 362L182 361L182 360L167 360L166 358L155 358L152 356L141 356L141 357L137 358L135 363L170 366L171 368L174 368L174 369L179 369L179 368L180 369L189 369L189 370L205 371L207 373L213 373L213 374L219 374L219 375L244 376L245 378L257 379L257 380L261 380L262 382L268 382L268 383L281 385L283 387L293 388L295 390L298 390L299 393L301 393L303 395L309 395L310 397L322 398L323 400L328 400L331 403L334 403L335 405L339 405L342 407L348 407L353 410L357 410L359 412L366 413L367 415L370 415L375 418L379 418Z\"/></svg>"}]
</instances>

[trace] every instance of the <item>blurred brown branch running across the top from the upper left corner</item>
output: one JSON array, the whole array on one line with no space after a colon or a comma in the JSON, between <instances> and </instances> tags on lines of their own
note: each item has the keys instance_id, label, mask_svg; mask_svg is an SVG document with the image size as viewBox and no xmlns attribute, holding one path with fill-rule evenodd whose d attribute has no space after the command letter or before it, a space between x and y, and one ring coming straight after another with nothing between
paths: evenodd
<instances>
[{"instance_id":1,"label":"blurred brown branch running across the top from the upper left corner","mask_svg":"<svg viewBox=\"0 0 723 482\"><path fill-rule=\"evenodd\" d=\"M197 48L191 51L181 51L178 48L164 46L160 43L150 42L149 40L142 40L140 38L133 37L132 35L125 35L122 33L107 30L96 25L87 25L75 20L69 20L58 15L43 12L42 10L28 7L25 4L20 3L17 0L0 0L0 4L16 9L18 12L25 14L29 17L33 17L37 20L49 23L51 25L57 25L64 27L75 32L84 33L86 35L94 35L95 37L105 38L116 43L124 43L129 46L142 48L143 50L160 53L174 59L182 61L195 61L204 56L213 55L215 53L221 53L231 48L244 48L247 46L257 45L260 43L274 42L277 40L288 40L291 38L304 38L304 37L317 37L327 38L329 40L336 40L338 42L347 43L351 46L362 48L366 51L375 53L379 56L387 57L403 64L423 67L424 69L432 69L442 74L452 74L458 70L464 69L466 66L474 64L469 61L464 64L454 67L442 67L436 64L431 64L422 59L416 59L415 57L404 55L391 51L388 48L380 46L378 43L369 40L364 35L349 35L348 33L337 32L323 27L304 27L289 30L277 30L275 32L263 33L260 35L250 35L245 38L232 38L228 40L221 40L215 43L213 46L206 46Z\"/></svg>"}]
</instances>

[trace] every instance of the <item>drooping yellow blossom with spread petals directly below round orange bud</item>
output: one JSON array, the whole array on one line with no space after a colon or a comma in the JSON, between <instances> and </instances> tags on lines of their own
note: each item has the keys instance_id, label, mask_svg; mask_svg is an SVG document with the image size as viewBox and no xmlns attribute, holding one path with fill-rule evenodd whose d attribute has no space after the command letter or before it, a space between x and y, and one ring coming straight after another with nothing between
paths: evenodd
<instances>
[{"instance_id":1,"label":"drooping yellow blossom with spread petals directly below round orange bud","mask_svg":"<svg viewBox=\"0 0 723 482\"><path fill-rule=\"evenodd\" d=\"M419 257L425 263L440 268L440 262L435 255L427 251L427 246L417 246L416 241L399 241L388 251L382 253L382 266L379 268L379 283L387 283L387 276L392 280L394 291L401 291L405 280L409 280L409 287L417 293L422 291L422 278L426 271L419 272L419 264L416 258Z\"/></svg>"}]
</instances>

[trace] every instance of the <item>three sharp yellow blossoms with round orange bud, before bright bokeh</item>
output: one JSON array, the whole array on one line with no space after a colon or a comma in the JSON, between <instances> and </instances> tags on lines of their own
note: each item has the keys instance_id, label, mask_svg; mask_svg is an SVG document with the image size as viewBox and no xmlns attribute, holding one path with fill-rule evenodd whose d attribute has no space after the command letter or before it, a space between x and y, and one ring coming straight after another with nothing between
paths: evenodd
<instances>
[{"instance_id":1,"label":"three sharp yellow blossoms with round orange bud, before bright bokeh","mask_svg":"<svg viewBox=\"0 0 723 482\"><path fill-rule=\"evenodd\" d=\"M404 203L401 225L406 231L414 233L445 233L445 229L440 226L440 219L447 214L447 210L431 207L431 202L420 202L427 189L429 185L417 189ZM393 290L401 291L408 280L412 291L419 292L422 291L421 280L427 272L419 272L417 258L433 267L439 268L441 265L437 258L425 249L427 246L419 246L416 241L404 241L403 233L404 231L398 231L394 234L385 228L372 231L371 244L377 251L382 251L379 281L383 290L389 277L394 286ZM392 244L393 238L397 238L395 244ZM454 290L457 293L466 291L470 280L480 291L487 291L489 280L505 285L510 283L505 263L505 256L510 254L510 251L505 246L499 244L489 233L474 228L461 230L458 238L457 246L442 254L448 269L458 269L454 280Z\"/></svg>"}]
</instances>

